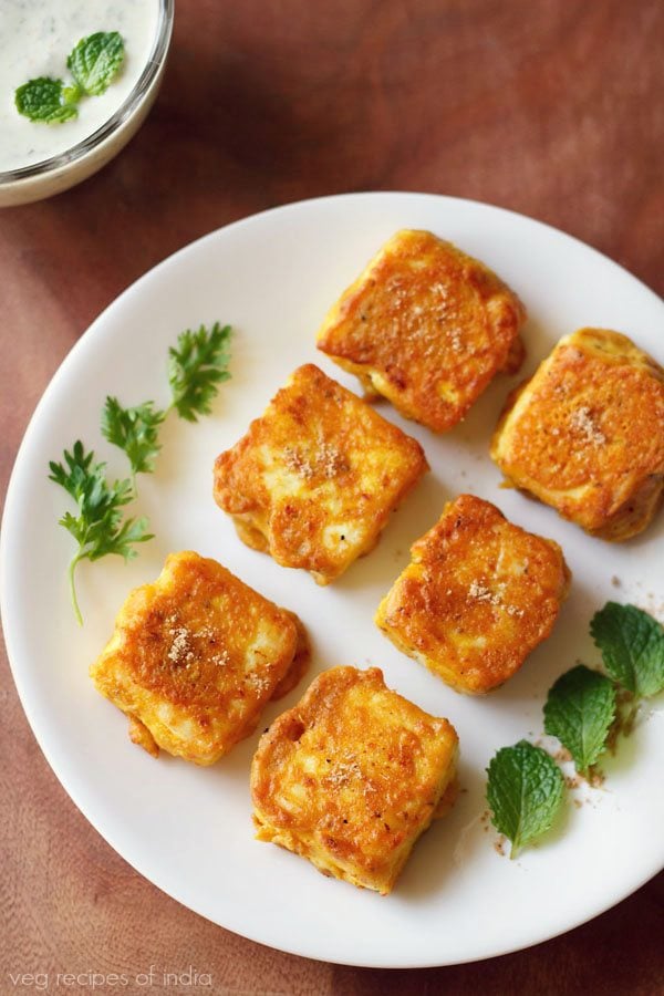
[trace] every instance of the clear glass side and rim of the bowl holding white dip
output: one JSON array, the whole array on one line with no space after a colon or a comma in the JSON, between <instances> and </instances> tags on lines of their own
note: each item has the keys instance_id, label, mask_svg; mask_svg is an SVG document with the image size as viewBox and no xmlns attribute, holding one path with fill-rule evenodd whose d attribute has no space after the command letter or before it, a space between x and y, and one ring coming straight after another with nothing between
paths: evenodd
<instances>
[{"instance_id":1,"label":"clear glass side and rim of the bowl holding white dip","mask_svg":"<svg viewBox=\"0 0 664 996\"><path fill-rule=\"evenodd\" d=\"M92 135L59 155L30 166L0 172L0 207L52 197L105 166L136 134L157 95L173 33L174 0L159 0L152 51L135 86Z\"/></svg>"}]
</instances>

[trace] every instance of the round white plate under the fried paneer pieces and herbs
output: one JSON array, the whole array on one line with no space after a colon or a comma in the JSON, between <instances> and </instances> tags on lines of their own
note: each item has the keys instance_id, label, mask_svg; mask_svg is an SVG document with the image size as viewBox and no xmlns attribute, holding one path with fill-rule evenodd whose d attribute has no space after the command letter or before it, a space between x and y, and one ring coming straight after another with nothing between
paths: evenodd
<instances>
[{"instance_id":1,"label":"round white plate under the fried paneer pieces and herbs","mask_svg":"<svg viewBox=\"0 0 664 996\"><path fill-rule=\"evenodd\" d=\"M318 588L247 549L210 495L215 456L236 442L288 374L313 361L351 388L353 378L314 349L326 308L398 228L427 228L494 268L526 302L530 373L581 325L629 333L664 362L664 304L598 252L505 210L447 197L362 194L291 205L240 221L183 249L115 301L72 350L44 394L14 468L3 522L2 615L25 713L63 786L103 837L143 875L196 912L255 941L309 957L367 966L445 965L498 955L568 930L623 899L664 864L662 714L651 714L619 757L605 788L580 808L570 797L558 828L517 861L485 831L484 770L495 750L542 729L552 681L581 657L609 598L662 604L662 517L641 538L610 546L549 508L499 490L490 433L515 378L497 377L468 418L444 437L388 418L423 443L432 473L377 549L339 582ZM173 417L154 476L139 478L139 510L157 539L129 567L120 558L79 569L85 627L69 603L70 537L56 525L68 497L48 461L81 437L126 475L98 433L106 393L125 404L167 401L167 346L187 326L219 319L236 329L232 380L214 416ZM409 543L460 491L488 498L516 522L558 540L573 571L552 637L494 695L459 696L400 654L372 623L407 561ZM465 792L416 845L395 892L381 898L325 879L307 861L253 840L248 788L256 736L214 768L133 746L125 717L93 688L87 665L110 635L128 590L152 580L166 553L191 548L225 563L297 610L313 637L310 677L334 664L380 665L390 686L447 716L461 745ZM612 584L619 578L621 587ZM309 681L309 678L307 679ZM307 684L307 682L304 682ZM267 726L302 688L271 706ZM578 793L577 793L578 795ZM581 798L583 796L581 795Z\"/></svg>"}]
</instances>

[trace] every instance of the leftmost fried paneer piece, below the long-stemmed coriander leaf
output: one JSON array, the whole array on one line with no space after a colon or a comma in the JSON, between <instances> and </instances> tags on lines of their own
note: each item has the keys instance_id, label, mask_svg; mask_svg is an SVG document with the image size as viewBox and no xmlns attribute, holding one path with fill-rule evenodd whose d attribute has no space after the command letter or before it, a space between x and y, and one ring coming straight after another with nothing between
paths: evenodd
<instances>
[{"instance_id":1,"label":"leftmost fried paneer piece, below the long-stemmed coriander leaf","mask_svg":"<svg viewBox=\"0 0 664 996\"><path fill-rule=\"evenodd\" d=\"M90 670L129 717L129 737L211 765L248 736L270 698L307 668L304 627L215 560L172 553L136 588Z\"/></svg>"}]
</instances>

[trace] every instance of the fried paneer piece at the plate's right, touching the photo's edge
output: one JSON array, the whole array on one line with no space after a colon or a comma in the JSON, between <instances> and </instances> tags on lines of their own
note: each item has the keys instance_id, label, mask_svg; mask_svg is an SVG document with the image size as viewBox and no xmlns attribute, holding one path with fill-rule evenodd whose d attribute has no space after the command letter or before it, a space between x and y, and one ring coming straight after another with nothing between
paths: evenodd
<instances>
[{"instance_id":1,"label":"fried paneer piece at the plate's right, touching the photo's edge","mask_svg":"<svg viewBox=\"0 0 664 996\"><path fill-rule=\"evenodd\" d=\"M664 370L626 335L580 329L508 397L491 457L592 536L635 536L664 490Z\"/></svg>"}]
</instances>

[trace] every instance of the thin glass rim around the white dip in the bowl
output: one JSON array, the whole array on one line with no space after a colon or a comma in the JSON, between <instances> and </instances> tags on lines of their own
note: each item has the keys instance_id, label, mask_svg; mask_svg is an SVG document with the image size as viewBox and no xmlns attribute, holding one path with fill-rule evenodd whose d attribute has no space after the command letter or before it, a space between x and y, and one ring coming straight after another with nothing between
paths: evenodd
<instances>
[{"instance_id":1,"label":"thin glass rim around the white dip in the bowl","mask_svg":"<svg viewBox=\"0 0 664 996\"><path fill-rule=\"evenodd\" d=\"M45 176L62 169L64 166L77 163L90 153L95 152L106 138L110 138L115 132L122 128L124 123L141 105L153 83L158 77L168 51L168 45L170 44L175 0L158 0L158 3L159 18L151 53L134 87L120 107L91 135L76 142L75 145L72 145L71 148L65 149L63 153L58 153L56 156L49 156L46 159L40 159L39 163L31 163L29 166L19 166L17 169L0 170L0 187L19 183L24 179L34 179L35 177Z\"/></svg>"}]
</instances>

